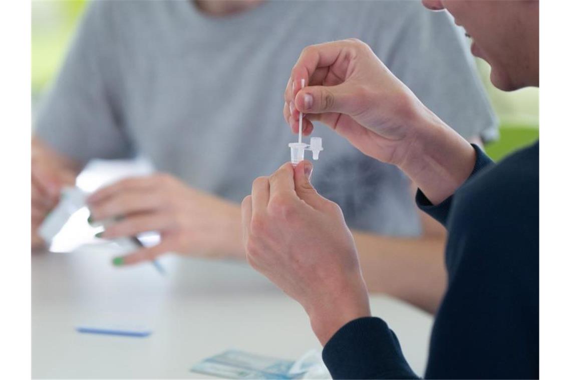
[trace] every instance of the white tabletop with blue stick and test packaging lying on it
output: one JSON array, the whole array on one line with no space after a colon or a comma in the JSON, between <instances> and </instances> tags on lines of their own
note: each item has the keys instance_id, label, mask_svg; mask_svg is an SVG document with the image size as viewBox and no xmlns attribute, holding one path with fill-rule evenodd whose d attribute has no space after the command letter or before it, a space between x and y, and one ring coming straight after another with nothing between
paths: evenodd
<instances>
[{"instance_id":1,"label":"white tabletop with blue stick and test packaging lying on it","mask_svg":"<svg viewBox=\"0 0 571 380\"><path fill-rule=\"evenodd\" d=\"M34 378L204 378L190 367L230 348L284 359L320 348L300 305L245 263L171 256L160 259L163 277L150 264L112 267L112 251L103 244L32 255ZM371 307L423 374L432 317L384 296ZM110 318L153 333L75 331Z\"/></svg>"}]
</instances>

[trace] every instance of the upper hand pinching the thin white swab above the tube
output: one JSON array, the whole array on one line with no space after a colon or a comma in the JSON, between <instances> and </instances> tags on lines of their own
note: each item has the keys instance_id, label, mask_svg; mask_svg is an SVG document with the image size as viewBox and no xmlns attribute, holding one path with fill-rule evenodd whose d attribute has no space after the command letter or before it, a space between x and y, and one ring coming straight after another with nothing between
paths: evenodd
<instances>
[{"instance_id":1,"label":"upper hand pinching the thin white swab above the tube","mask_svg":"<svg viewBox=\"0 0 571 380\"><path fill-rule=\"evenodd\" d=\"M308 87L301 89L301 79ZM299 111L330 126L361 152L399 164L413 140L411 120L425 112L416 96L377 58L367 44L342 40L304 48L284 93L284 117L297 133Z\"/></svg>"}]
</instances>

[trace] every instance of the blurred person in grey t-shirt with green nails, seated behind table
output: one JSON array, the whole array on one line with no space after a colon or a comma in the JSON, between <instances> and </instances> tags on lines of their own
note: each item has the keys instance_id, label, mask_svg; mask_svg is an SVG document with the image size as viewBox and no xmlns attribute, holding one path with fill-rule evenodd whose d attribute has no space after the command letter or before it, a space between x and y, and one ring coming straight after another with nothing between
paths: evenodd
<instances>
[{"instance_id":1,"label":"blurred person in grey t-shirt with green nails, seated behind table","mask_svg":"<svg viewBox=\"0 0 571 380\"><path fill-rule=\"evenodd\" d=\"M495 136L464 36L420 3L93 2L35 120L34 245L59 188L88 161L140 154L157 173L99 190L91 211L124 216L103 237L159 231L161 242L115 263L165 252L244 258L239 202L296 139L282 119L289 69L303 47L344 38L371 46L465 138ZM369 289L435 310L444 232L419 215L411 183L325 126L313 134L325 151L312 182L343 209Z\"/></svg>"}]
</instances>

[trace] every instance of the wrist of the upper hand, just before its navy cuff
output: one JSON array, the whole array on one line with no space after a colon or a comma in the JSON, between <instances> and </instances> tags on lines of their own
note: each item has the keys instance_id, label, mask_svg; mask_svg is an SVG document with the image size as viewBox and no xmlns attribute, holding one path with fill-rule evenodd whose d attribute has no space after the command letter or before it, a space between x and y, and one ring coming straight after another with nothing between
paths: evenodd
<instances>
[{"instance_id":1,"label":"wrist of the upper hand, just before its navy cuff","mask_svg":"<svg viewBox=\"0 0 571 380\"><path fill-rule=\"evenodd\" d=\"M426 108L411 123L411 142L398 166L436 205L466 181L475 165L476 152Z\"/></svg>"}]
</instances>

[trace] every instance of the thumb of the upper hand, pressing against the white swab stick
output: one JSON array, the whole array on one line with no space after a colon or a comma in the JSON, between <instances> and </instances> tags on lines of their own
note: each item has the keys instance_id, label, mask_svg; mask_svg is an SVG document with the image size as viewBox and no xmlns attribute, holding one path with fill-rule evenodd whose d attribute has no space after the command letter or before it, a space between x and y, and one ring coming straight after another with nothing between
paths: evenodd
<instances>
[{"instance_id":1,"label":"thumb of the upper hand, pressing against the white swab stick","mask_svg":"<svg viewBox=\"0 0 571 380\"><path fill-rule=\"evenodd\" d=\"M305 87L295 96L295 108L304 113L339 112L352 115L358 101L355 98L355 91L351 91L346 83Z\"/></svg>"}]
</instances>

